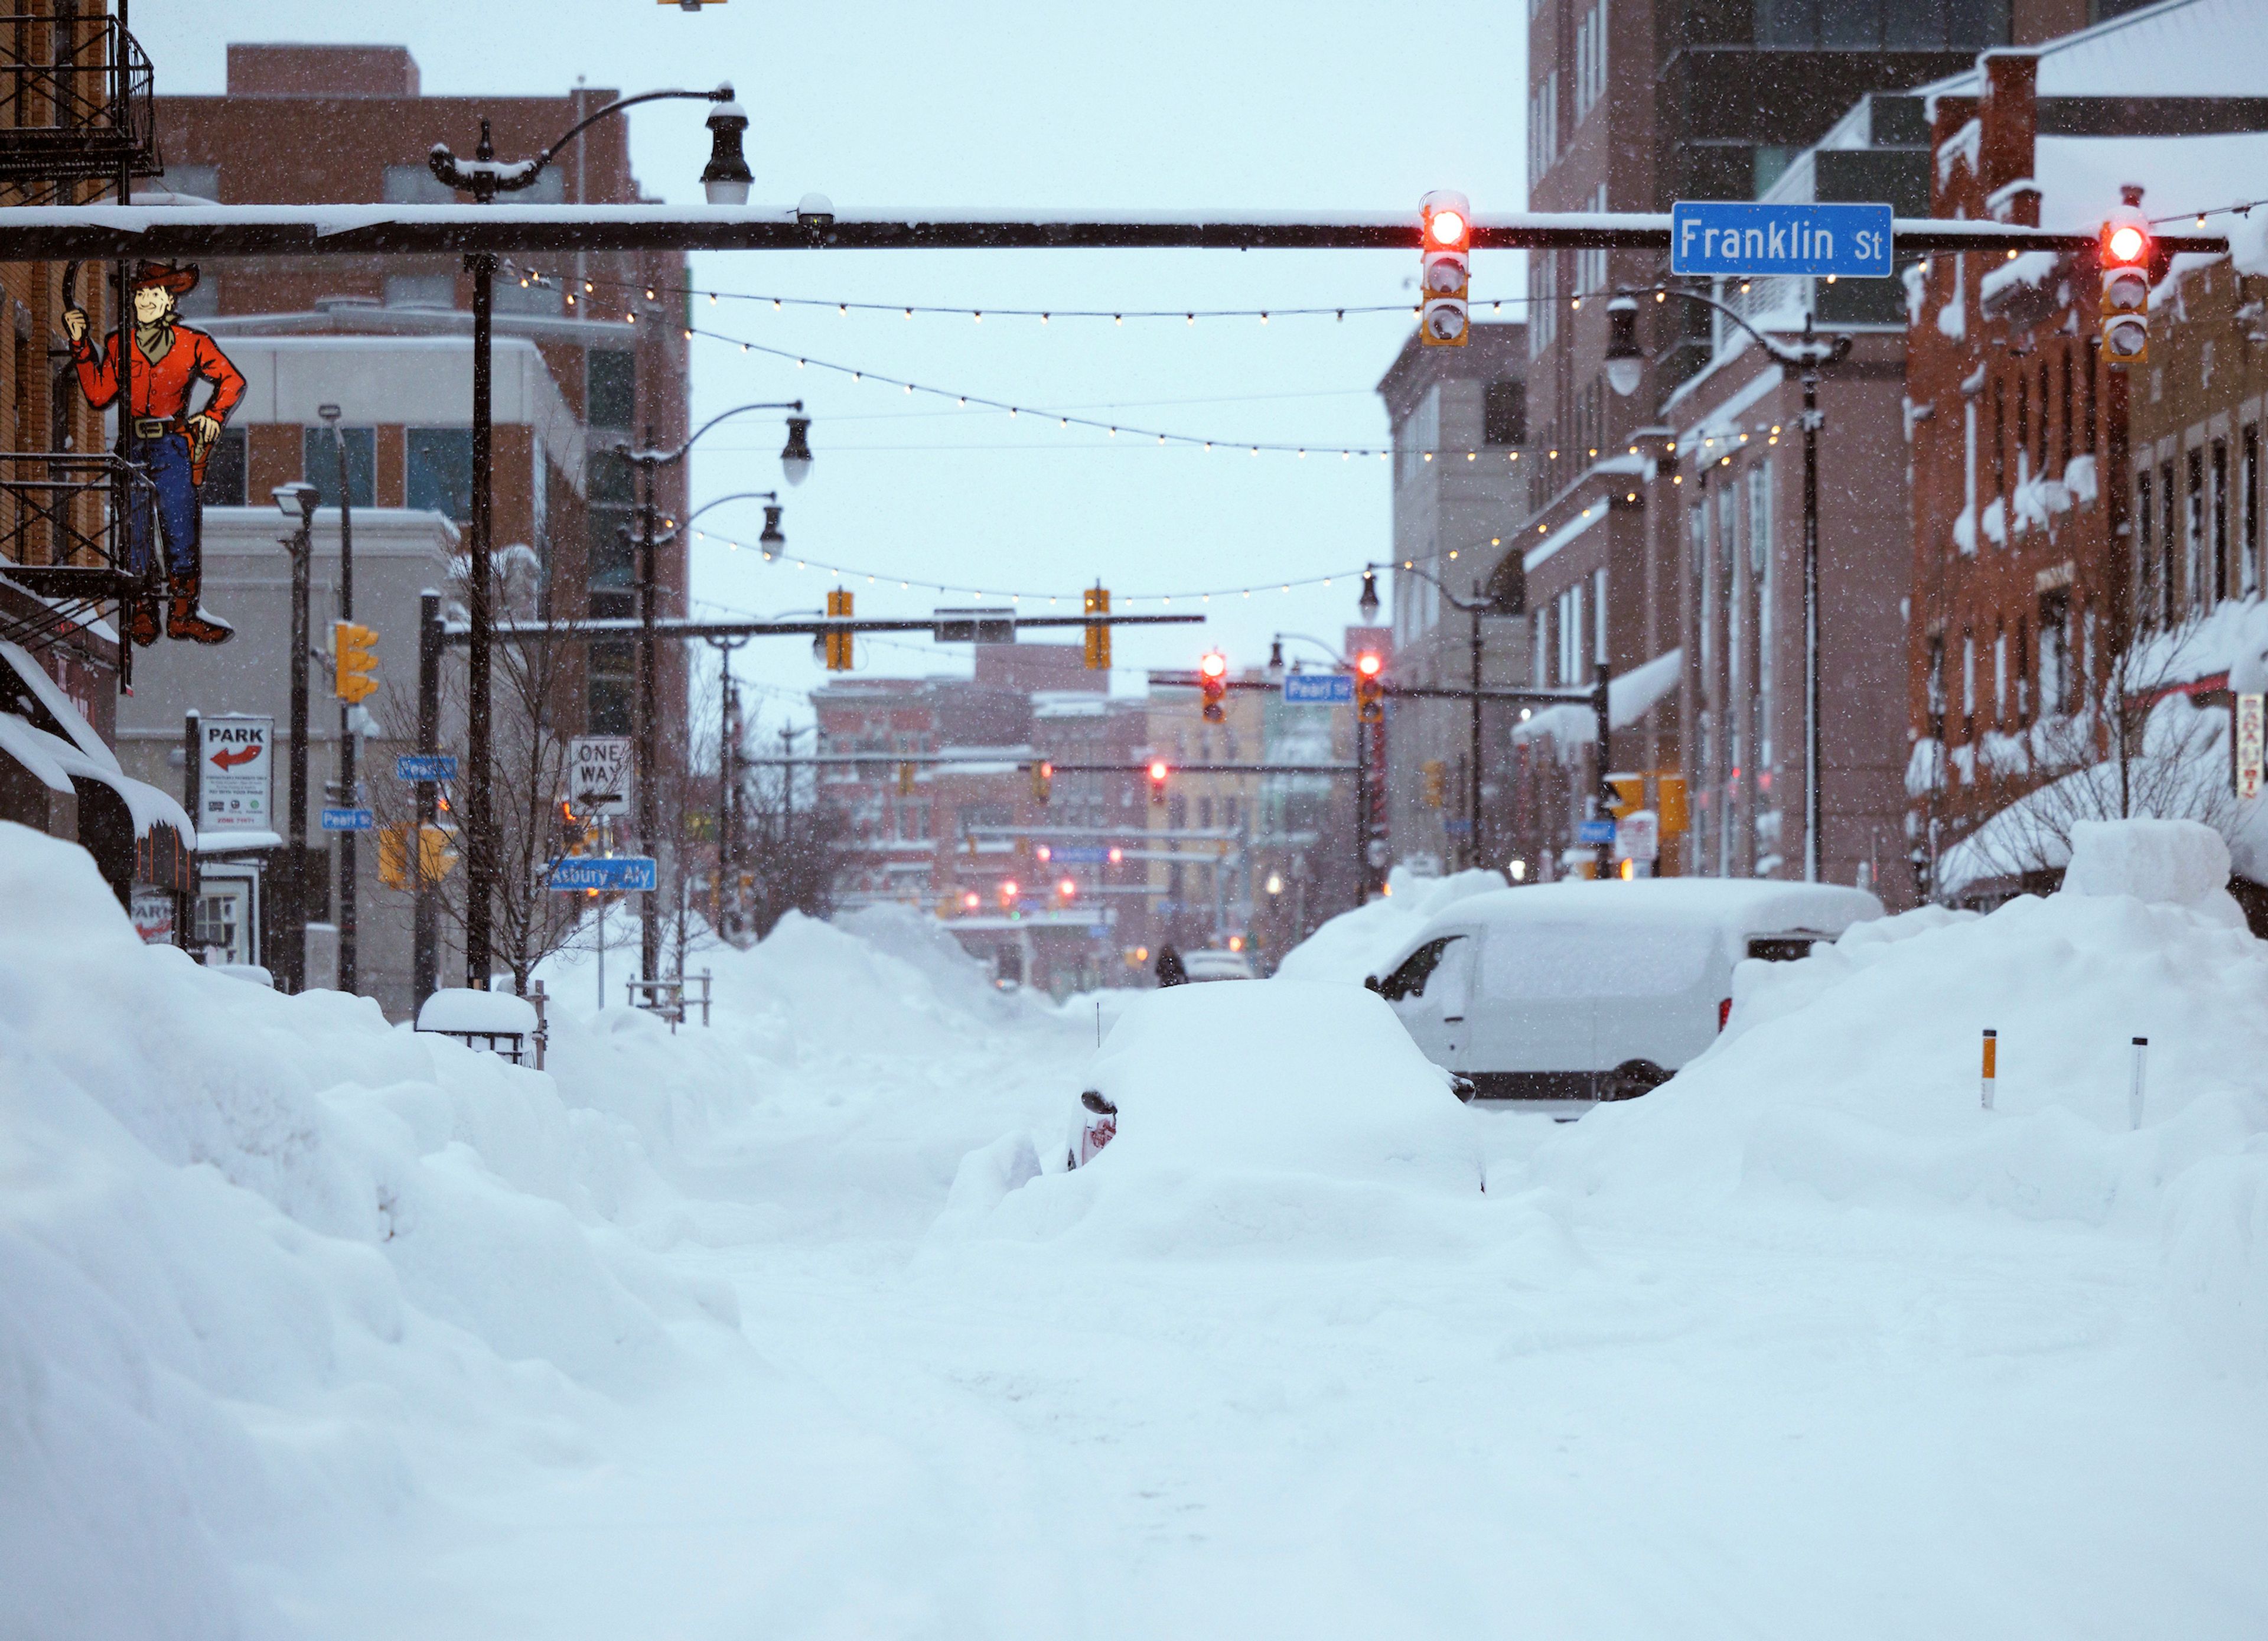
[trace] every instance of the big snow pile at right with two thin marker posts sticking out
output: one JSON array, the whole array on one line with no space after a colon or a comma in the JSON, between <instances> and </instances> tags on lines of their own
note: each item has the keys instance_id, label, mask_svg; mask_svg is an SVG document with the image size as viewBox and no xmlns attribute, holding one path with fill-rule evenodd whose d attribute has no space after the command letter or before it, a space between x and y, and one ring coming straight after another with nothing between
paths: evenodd
<instances>
[{"instance_id":1,"label":"big snow pile at right with two thin marker posts sticking out","mask_svg":"<svg viewBox=\"0 0 2268 1641\"><path fill-rule=\"evenodd\" d=\"M2073 887L2048 899L1923 908L1742 965L1724 1037L1644 1101L1554 1135L1538 1183L2164 1232L2193 1316L2268 1364L2268 946L2229 917L2211 828L2087 824L2075 842ZM2139 1130L2132 1037L2150 1042Z\"/></svg>"}]
</instances>

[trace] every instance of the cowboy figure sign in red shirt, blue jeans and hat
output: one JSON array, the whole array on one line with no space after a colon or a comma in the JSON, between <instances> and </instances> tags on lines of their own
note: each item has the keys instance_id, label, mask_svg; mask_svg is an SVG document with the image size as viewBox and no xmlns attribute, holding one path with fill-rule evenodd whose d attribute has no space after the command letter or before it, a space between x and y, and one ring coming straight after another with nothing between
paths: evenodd
<instances>
[{"instance_id":1,"label":"cowboy figure sign in red shirt, blue jeans and hat","mask_svg":"<svg viewBox=\"0 0 2268 1641\"><path fill-rule=\"evenodd\" d=\"M236 636L218 615L197 604L202 577L202 511L197 486L204 463L220 438L220 424L245 397L243 372L227 361L213 338L193 331L175 318L175 304L197 286L197 270L170 261L145 261L134 270L134 352L129 386L134 404L122 411L125 454L150 477L147 490L136 490L127 511L127 567L145 574L154 556L154 529L166 533L166 636L200 645L225 645ZM64 309L70 334L70 356L79 368L79 388L98 411L118 399L118 331L111 331L95 354L86 338L86 313ZM191 388L204 381L211 393L197 411L188 409ZM147 599L132 599L125 611L127 633L136 645L154 645L159 611Z\"/></svg>"}]
</instances>

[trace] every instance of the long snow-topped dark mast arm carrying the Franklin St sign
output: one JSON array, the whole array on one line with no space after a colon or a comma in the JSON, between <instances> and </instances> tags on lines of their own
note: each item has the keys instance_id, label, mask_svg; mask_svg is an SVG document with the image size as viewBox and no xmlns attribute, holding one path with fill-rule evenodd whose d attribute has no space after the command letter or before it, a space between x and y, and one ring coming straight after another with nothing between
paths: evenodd
<instances>
[{"instance_id":1,"label":"long snow-topped dark mast arm carrying the Franklin St sign","mask_svg":"<svg viewBox=\"0 0 2268 1641\"><path fill-rule=\"evenodd\" d=\"M2107 202L2109 207L2109 202ZM2105 209L2107 209L2105 207ZM2159 234L2225 252L2218 234ZM2084 250L2093 234L1898 218L1901 252ZM0 261L120 256L558 256L615 250L1420 250L1408 211L837 211L671 204L222 204L9 207ZM1658 211L1510 211L1472 218L1474 250L1669 250Z\"/></svg>"}]
</instances>

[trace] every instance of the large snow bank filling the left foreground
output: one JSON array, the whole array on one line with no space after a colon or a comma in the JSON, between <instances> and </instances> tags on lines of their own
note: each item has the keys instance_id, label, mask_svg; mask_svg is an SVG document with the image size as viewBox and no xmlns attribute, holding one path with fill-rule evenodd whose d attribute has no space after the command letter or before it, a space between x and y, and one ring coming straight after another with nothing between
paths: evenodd
<instances>
[{"instance_id":1,"label":"large snow bank filling the left foreground","mask_svg":"<svg viewBox=\"0 0 2268 1641\"><path fill-rule=\"evenodd\" d=\"M621 1230L628 1126L367 999L145 946L0 824L0 1632L236 1634L413 1491L417 1428L633 1394L730 1289Z\"/></svg>"}]
</instances>

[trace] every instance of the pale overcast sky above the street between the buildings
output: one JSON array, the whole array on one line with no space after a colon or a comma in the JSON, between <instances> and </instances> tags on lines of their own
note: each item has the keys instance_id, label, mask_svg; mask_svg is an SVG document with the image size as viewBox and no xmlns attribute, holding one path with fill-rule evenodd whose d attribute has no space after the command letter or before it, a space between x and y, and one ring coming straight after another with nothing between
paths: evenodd
<instances>
[{"instance_id":1,"label":"pale overcast sky above the street between the buildings","mask_svg":"<svg viewBox=\"0 0 2268 1641\"><path fill-rule=\"evenodd\" d=\"M753 197L826 193L839 209L1363 209L1411 211L1463 188L1476 211L1524 202L1524 34L1517 5L778 5L699 14L653 0L229 0L152 5L132 25L159 91L225 89L227 41L406 43L429 93L646 91L730 79L751 113ZM692 202L708 152L699 104L631 113L649 193ZM467 134L435 132L458 141ZM792 252L694 259L696 286L828 300L987 309L1261 309L1402 302L1413 254L1386 252ZM1483 254L1474 295L1520 291L1515 254ZM987 592L1061 592L1095 577L1118 595L1313 577L1388 552L1388 463L1340 461L1383 443L1374 395L1408 315L1347 320L1039 320L773 311L721 302L733 336L885 377L1025 406L1080 406L1132 427L1306 443L1227 454L1109 438L1052 420L959 411L898 388L694 343L694 418L803 397L816 470L789 493L789 554ZM1506 309L1510 315L1513 309ZM780 429L714 431L694 499L778 483ZM753 506L719 508L694 592L778 613L830 581L762 565ZM848 581L860 615L939 599L894 579ZM1207 645L1266 660L1277 629L1336 636L1354 583L1216 597L1207 629L1123 633L1118 688L1188 665ZM1179 599L1175 604L1179 608ZM1032 608L1030 601L1025 608ZM1068 608L1077 608L1075 604ZM1154 599L1136 608L1154 611ZM948 672L966 649L869 645L878 674ZM826 674L794 642L751 645L739 674L801 692Z\"/></svg>"}]
</instances>

